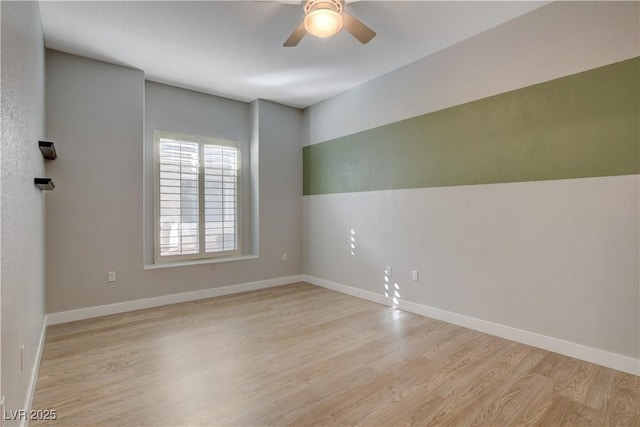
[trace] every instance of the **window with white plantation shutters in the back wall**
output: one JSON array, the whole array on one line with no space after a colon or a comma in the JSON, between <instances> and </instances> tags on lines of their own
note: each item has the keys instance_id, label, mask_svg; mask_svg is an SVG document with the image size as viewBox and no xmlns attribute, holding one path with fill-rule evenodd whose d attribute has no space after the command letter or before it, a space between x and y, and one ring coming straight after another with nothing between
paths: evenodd
<instances>
[{"instance_id":1,"label":"window with white plantation shutters in the back wall","mask_svg":"<svg viewBox=\"0 0 640 427\"><path fill-rule=\"evenodd\" d=\"M155 132L156 262L240 255L238 145Z\"/></svg>"}]
</instances>

